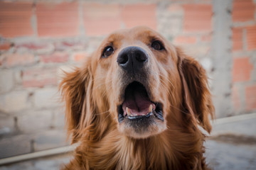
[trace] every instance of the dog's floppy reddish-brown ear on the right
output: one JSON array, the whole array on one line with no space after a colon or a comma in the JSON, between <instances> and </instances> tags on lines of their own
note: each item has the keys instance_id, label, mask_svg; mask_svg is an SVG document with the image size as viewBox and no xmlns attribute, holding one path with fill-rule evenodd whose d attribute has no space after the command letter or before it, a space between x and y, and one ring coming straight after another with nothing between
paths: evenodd
<instances>
[{"instance_id":1,"label":"dog's floppy reddish-brown ear on the right","mask_svg":"<svg viewBox=\"0 0 256 170\"><path fill-rule=\"evenodd\" d=\"M179 57L178 69L183 83L184 107L195 115L199 125L210 133L209 115L214 118L215 109L211 100L206 71L192 57L176 48Z\"/></svg>"}]
</instances>

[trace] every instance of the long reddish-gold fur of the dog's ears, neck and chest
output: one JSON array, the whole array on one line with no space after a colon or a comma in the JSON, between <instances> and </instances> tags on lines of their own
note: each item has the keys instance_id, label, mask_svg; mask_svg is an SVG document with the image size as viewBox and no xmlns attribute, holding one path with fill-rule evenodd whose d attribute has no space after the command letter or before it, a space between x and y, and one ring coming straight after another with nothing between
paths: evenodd
<instances>
[{"instance_id":1,"label":"long reddish-gold fur of the dog's ears, neck and chest","mask_svg":"<svg viewBox=\"0 0 256 170\"><path fill-rule=\"evenodd\" d=\"M176 48L177 79L181 94L168 98L179 108L168 108L167 129L145 139L127 137L117 130L107 97L97 96L97 67L87 59L85 65L66 73L60 83L65 101L65 119L73 142L80 142L74 159L63 169L208 169L203 157L205 135L198 124L210 132L208 116L214 116L206 72L196 60ZM94 65L93 65L94 64ZM169 84L169 82L165 82ZM107 89L102 82L102 88ZM100 84L101 85L101 84ZM114 93L114 91L112 91ZM166 91L166 95L169 91Z\"/></svg>"}]
</instances>

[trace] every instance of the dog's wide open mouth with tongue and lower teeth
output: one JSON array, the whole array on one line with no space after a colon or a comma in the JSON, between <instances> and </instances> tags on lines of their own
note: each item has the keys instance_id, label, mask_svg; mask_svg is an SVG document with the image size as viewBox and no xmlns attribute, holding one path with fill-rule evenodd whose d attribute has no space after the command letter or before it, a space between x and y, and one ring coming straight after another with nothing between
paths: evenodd
<instances>
[{"instance_id":1,"label":"dog's wide open mouth with tongue and lower teeth","mask_svg":"<svg viewBox=\"0 0 256 170\"><path fill-rule=\"evenodd\" d=\"M146 88L137 81L127 86L124 92L124 102L117 106L119 123L124 119L142 120L152 116L164 121L162 110L161 103L151 101Z\"/></svg>"}]
</instances>

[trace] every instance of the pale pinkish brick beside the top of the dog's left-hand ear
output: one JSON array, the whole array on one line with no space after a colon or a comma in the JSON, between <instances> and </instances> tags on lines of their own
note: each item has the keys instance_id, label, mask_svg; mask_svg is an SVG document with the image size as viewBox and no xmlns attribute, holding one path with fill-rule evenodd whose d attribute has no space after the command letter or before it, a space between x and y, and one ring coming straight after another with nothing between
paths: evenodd
<instances>
[{"instance_id":1,"label":"pale pinkish brick beside the top of the dog's left-hand ear","mask_svg":"<svg viewBox=\"0 0 256 170\"><path fill-rule=\"evenodd\" d=\"M57 84L57 69L28 69L22 74L23 87L43 87Z\"/></svg>"}]
</instances>

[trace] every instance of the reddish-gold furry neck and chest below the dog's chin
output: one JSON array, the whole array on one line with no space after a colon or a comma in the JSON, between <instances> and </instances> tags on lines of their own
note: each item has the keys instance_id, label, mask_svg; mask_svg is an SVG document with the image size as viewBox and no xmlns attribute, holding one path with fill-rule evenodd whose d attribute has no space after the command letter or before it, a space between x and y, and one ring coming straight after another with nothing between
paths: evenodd
<instances>
[{"instance_id":1,"label":"reddish-gold furry neck and chest below the dog's chin","mask_svg":"<svg viewBox=\"0 0 256 170\"><path fill-rule=\"evenodd\" d=\"M82 142L77 151L87 167L94 169L195 169L199 166L203 142L195 135L170 134L166 130L146 139L133 139L116 129L109 130L97 142Z\"/></svg>"}]
</instances>

